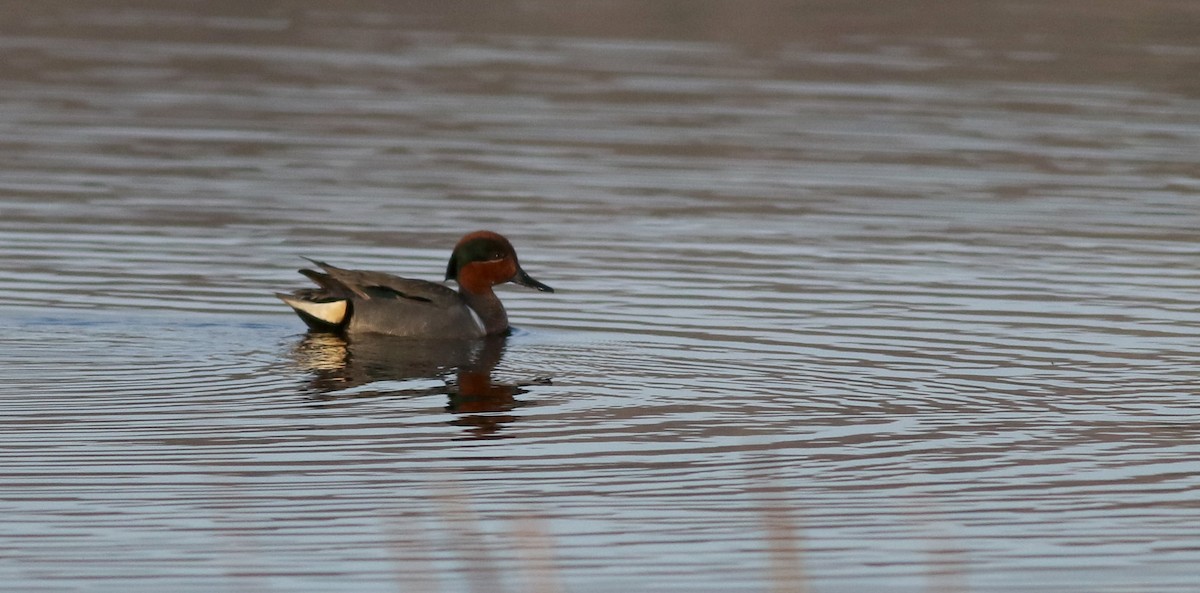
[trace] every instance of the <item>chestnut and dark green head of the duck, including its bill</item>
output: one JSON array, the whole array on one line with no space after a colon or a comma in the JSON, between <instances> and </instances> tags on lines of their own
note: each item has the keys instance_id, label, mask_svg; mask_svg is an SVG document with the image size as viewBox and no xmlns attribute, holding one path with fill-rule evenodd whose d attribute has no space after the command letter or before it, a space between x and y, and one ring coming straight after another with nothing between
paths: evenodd
<instances>
[{"instance_id":1,"label":"chestnut and dark green head of the duck, including its bill","mask_svg":"<svg viewBox=\"0 0 1200 593\"><path fill-rule=\"evenodd\" d=\"M491 230L468 233L455 245L446 264L446 280L458 282L464 290L479 293L496 284L514 282L545 293L553 288L538 282L521 269L517 252L508 239Z\"/></svg>"}]
</instances>

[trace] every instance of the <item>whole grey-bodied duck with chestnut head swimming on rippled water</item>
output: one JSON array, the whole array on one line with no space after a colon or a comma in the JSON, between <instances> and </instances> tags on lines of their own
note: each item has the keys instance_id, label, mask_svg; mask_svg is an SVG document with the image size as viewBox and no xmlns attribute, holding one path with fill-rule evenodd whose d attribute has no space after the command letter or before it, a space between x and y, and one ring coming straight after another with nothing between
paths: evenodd
<instances>
[{"instance_id":1,"label":"whole grey-bodied duck with chestnut head swimming on rippled water","mask_svg":"<svg viewBox=\"0 0 1200 593\"><path fill-rule=\"evenodd\" d=\"M450 253L445 280L457 282L457 290L439 282L308 260L320 271L299 271L318 288L275 295L290 306L310 330L319 333L415 339L506 335L509 316L492 287L512 282L545 293L554 292L521 269L512 244L491 230L467 233Z\"/></svg>"}]
</instances>

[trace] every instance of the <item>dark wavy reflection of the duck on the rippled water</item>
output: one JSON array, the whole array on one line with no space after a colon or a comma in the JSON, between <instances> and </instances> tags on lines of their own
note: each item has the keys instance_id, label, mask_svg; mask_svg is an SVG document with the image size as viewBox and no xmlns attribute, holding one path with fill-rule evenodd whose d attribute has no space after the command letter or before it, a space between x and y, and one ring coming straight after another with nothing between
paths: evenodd
<instances>
[{"instance_id":1,"label":"dark wavy reflection of the duck on the rippled water","mask_svg":"<svg viewBox=\"0 0 1200 593\"><path fill-rule=\"evenodd\" d=\"M310 387L322 397L443 394L449 402L446 411L460 414L451 424L466 427L473 436L488 437L516 420L498 413L521 406L516 396L528 391L492 379L506 342L506 336L436 341L313 333L305 335L294 353L300 365L313 373ZM379 389L355 389L372 384L379 384Z\"/></svg>"}]
</instances>

